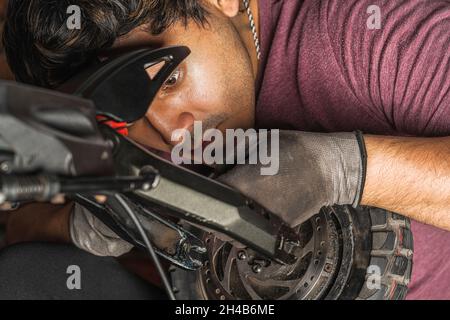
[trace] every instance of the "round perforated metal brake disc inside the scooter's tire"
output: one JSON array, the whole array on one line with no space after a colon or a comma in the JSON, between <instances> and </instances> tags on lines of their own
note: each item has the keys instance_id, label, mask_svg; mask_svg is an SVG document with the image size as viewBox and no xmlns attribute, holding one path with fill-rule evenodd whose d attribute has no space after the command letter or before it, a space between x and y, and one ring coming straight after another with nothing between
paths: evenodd
<instances>
[{"instance_id":1,"label":"round perforated metal brake disc inside the scooter's tire","mask_svg":"<svg viewBox=\"0 0 450 320\"><path fill-rule=\"evenodd\" d=\"M322 212L296 229L296 261L281 265L239 249L214 234L205 234L209 258L201 273L201 290L210 299L320 299L326 296L340 265L339 227Z\"/></svg>"}]
</instances>

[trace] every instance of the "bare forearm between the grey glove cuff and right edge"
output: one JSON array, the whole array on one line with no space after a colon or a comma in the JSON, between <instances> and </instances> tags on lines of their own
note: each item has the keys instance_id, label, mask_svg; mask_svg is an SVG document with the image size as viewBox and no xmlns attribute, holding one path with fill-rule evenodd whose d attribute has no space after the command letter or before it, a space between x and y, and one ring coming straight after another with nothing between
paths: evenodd
<instances>
[{"instance_id":1,"label":"bare forearm between the grey glove cuff and right edge","mask_svg":"<svg viewBox=\"0 0 450 320\"><path fill-rule=\"evenodd\" d=\"M450 138L366 136L363 205L450 230Z\"/></svg>"}]
</instances>

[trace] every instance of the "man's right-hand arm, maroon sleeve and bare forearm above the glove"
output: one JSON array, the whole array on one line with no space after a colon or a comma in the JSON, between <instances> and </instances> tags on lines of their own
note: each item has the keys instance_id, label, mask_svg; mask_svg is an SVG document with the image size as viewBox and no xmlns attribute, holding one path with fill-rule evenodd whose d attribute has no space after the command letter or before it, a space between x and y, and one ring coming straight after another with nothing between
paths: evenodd
<instances>
[{"instance_id":1,"label":"man's right-hand arm, maroon sleeve and bare forearm above the glove","mask_svg":"<svg viewBox=\"0 0 450 320\"><path fill-rule=\"evenodd\" d=\"M413 138L450 136L450 2L327 2L331 47L360 107L410 136L366 136L362 203L450 230L450 138Z\"/></svg>"}]
</instances>

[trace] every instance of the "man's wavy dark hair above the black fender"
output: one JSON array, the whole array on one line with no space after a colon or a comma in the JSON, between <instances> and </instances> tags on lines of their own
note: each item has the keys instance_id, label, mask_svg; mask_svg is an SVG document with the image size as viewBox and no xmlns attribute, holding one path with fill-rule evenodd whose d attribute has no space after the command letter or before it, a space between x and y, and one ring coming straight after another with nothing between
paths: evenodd
<instances>
[{"instance_id":1,"label":"man's wavy dark hair above the black fender","mask_svg":"<svg viewBox=\"0 0 450 320\"><path fill-rule=\"evenodd\" d=\"M173 23L206 22L200 0L9 0L3 44L16 80L54 88L98 52L148 24L160 34ZM81 9L81 29L67 27L67 9Z\"/></svg>"}]
</instances>

